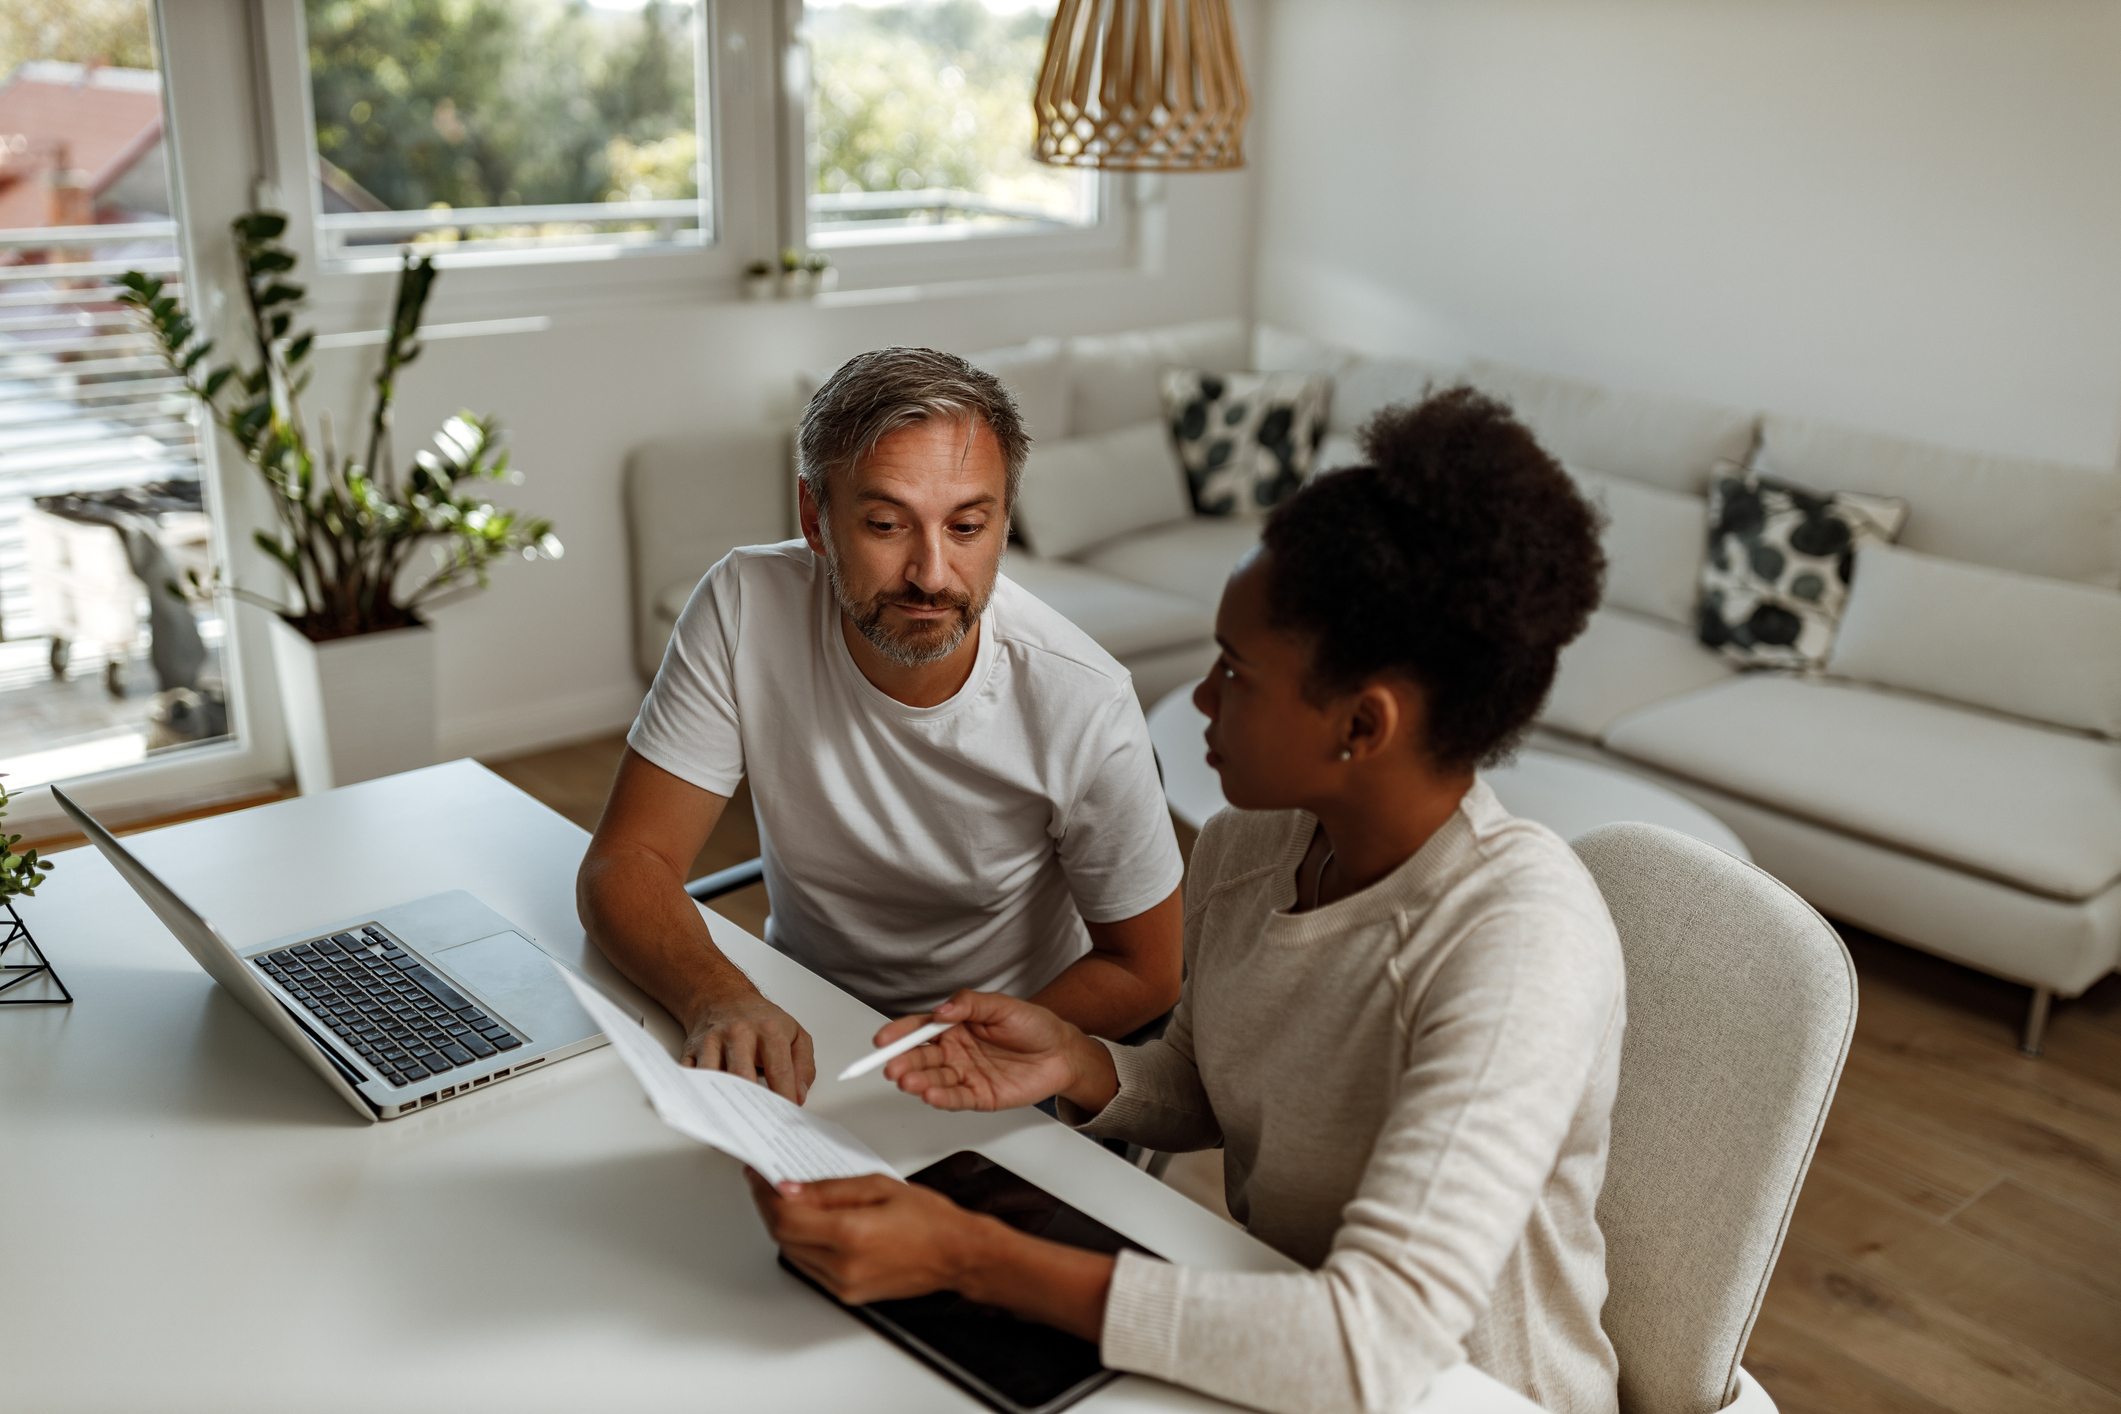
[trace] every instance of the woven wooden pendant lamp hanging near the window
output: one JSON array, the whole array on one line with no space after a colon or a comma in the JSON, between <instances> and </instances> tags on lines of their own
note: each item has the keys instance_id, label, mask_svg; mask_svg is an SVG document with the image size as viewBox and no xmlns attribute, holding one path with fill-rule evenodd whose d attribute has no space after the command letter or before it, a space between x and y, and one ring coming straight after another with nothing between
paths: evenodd
<instances>
[{"instance_id":1,"label":"woven wooden pendant lamp hanging near the window","mask_svg":"<svg viewBox=\"0 0 2121 1414\"><path fill-rule=\"evenodd\" d=\"M1060 0L1031 108L1035 157L1056 167L1243 167L1251 93L1228 0Z\"/></svg>"}]
</instances>

